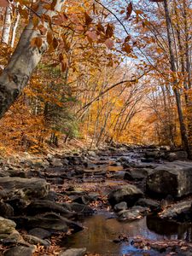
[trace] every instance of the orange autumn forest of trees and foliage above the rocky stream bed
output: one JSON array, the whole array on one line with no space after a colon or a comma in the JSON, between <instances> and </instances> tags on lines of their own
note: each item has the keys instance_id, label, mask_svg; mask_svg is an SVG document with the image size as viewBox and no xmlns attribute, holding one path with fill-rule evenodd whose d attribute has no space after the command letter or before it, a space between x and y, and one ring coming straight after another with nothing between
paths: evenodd
<instances>
[{"instance_id":1,"label":"orange autumn forest of trees and foliage above the rocky stream bed","mask_svg":"<svg viewBox=\"0 0 192 256\"><path fill-rule=\"evenodd\" d=\"M1 150L79 138L183 145L190 156L191 2L60 4L0 2L1 94L16 95L1 103ZM33 64L22 70L21 58ZM8 92L15 73L29 74Z\"/></svg>"}]
</instances>

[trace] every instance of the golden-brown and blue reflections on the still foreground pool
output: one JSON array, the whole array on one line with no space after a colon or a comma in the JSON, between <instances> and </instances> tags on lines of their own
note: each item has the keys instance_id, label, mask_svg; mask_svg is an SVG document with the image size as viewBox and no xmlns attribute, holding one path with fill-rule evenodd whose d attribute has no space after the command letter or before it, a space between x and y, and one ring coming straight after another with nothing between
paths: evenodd
<instances>
[{"instance_id":1,"label":"golden-brown and blue reflections on the still foreground pool","mask_svg":"<svg viewBox=\"0 0 192 256\"><path fill-rule=\"evenodd\" d=\"M130 242L115 244L113 239L119 234L126 236L144 236L149 239L158 240L162 238L176 238L174 230L166 235L154 228L157 224L152 219L146 218L134 222L119 222L115 218L106 219L103 215L96 215L86 218L83 222L85 229L73 236L69 236L68 240L62 241L64 247L86 247L90 253L100 253L102 255L120 256L125 253L132 255L143 255L141 250L131 247ZM165 226L164 226L165 227ZM156 234L154 231L160 232ZM177 232L177 229L175 230ZM159 255L151 251L149 255Z\"/></svg>"}]
</instances>

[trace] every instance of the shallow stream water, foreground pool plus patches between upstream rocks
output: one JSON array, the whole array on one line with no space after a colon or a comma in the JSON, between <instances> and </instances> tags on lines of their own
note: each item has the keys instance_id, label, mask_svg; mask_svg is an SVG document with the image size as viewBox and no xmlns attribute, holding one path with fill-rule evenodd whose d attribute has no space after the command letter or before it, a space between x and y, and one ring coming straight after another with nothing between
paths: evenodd
<instances>
[{"instance_id":1,"label":"shallow stream water, foreground pool plus patches between upstream rocks","mask_svg":"<svg viewBox=\"0 0 192 256\"><path fill-rule=\"evenodd\" d=\"M117 185L125 183L123 180L124 171L122 166L111 165L116 162L122 154L113 154L108 159L107 156L101 156L103 161L108 160L108 165L98 165L94 170L99 171L102 169L105 172L113 173L113 179L105 179L102 183L102 193L108 194L108 185ZM137 165L141 164L141 155L134 153L127 153L123 155L129 159L131 163ZM140 156L140 158L139 158ZM99 173L99 172L98 172ZM96 175L96 174L95 174ZM117 177L117 178L115 178ZM119 177L122 177L119 178ZM89 183L90 177L84 178L84 184L91 188L94 183ZM84 186L84 185L83 185ZM121 256L121 255L166 255L153 249L139 249L133 246L133 238L143 236L144 238L159 241L164 239L192 241L192 225L191 224L177 224L170 221L160 220L153 215L137 219L134 221L119 221L115 218L115 213L105 210L97 211L93 216L85 217L80 220L84 226L84 230L67 236L61 241L63 247L86 247L89 253L98 253L103 256ZM128 237L128 241L115 243L114 240L119 235L124 234Z\"/></svg>"}]
</instances>

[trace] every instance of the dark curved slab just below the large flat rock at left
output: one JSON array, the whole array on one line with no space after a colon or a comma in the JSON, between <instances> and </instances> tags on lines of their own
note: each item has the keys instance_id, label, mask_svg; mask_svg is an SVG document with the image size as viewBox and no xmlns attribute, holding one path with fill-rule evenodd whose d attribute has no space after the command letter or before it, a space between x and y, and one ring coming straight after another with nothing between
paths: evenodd
<instances>
[{"instance_id":1,"label":"dark curved slab just below the large flat rock at left","mask_svg":"<svg viewBox=\"0 0 192 256\"><path fill-rule=\"evenodd\" d=\"M60 213L61 216L65 217L73 217L74 213L69 212L67 209L62 207L61 204L56 203L55 201L49 200L35 200L32 201L31 204L26 207L26 215L34 216L36 214L41 214L45 212L56 212Z\"/></svg>"}]
</instances>

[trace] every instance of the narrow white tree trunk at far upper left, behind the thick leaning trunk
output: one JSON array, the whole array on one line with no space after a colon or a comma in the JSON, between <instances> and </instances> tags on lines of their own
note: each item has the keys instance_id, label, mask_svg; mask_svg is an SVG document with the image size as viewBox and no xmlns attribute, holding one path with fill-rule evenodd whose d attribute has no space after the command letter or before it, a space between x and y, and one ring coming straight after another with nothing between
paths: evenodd
<instances>
[{"instance_id":1,"label":"narrow white tree trunk at far upper left, behind the thick leaning trunk","mask_svg":"<svg viewBox=\"0 0 192 256\"><path fill-rule=\"evenodd\" d=\"M2 43L9 44L9 36L11 29L11 15L12 9L11 6L6 8L5 16L4 16L4 24L3 24L3 33L2 33Z\"/></svg>"}]
</instances>

